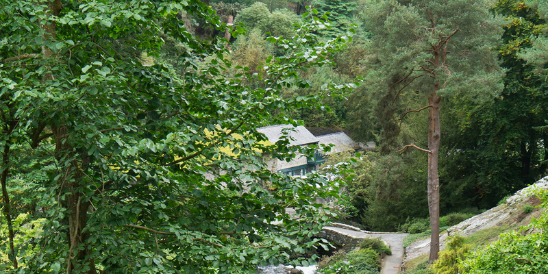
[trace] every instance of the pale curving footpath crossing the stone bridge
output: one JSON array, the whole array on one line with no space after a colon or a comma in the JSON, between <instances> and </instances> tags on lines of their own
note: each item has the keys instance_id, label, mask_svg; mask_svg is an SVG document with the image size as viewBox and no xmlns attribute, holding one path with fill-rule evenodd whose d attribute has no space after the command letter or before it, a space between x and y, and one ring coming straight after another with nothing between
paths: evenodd
<instances>
[{"instance_id":1,"label":"pale curving footpath crossing the stone bridge","mask_svg":"<svg viewBox=\"0 0 548 274\"><path fill-rule=\"evenodd\" d=\"M381 238L390 245L392 251L391 256L386 256L382 261L381 274L398 274L401 270L401 260L403 259L403 238L406 238L407 233L379 233L366 232L363 230L348 229L342 227L324 227L325 229L334 230L340 234L345 234L353 238Z\"/></svg>"}]
</instances>

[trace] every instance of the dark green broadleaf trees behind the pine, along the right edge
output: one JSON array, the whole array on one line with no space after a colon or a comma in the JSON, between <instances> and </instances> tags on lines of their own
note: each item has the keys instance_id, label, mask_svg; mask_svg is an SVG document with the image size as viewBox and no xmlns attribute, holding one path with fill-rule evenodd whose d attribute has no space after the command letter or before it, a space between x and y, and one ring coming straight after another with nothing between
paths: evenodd
<instances>
[{"instance_id":1,"label":"dark green broadleaf trees behind the pine, along the right edge","mask_svg":"<svg viewBox=\"0 0 548 274\"><path fill-rule=\"evenodd\" d=\"M545 133L536 129L548 118L537 111L547 108L545 79L521 59L541 34L545 19L534 6L518 0L497 1L493 13L506 18L501 45L495 47L506 69L501 96L482 103L453 98L456 108L446 120L454 123L445 171L449 189L456 192L453 199L473 197L467 203L480 208L495 206L542 177L547 168L545 148L538 142Z\"/></svg>"}]
</instances>

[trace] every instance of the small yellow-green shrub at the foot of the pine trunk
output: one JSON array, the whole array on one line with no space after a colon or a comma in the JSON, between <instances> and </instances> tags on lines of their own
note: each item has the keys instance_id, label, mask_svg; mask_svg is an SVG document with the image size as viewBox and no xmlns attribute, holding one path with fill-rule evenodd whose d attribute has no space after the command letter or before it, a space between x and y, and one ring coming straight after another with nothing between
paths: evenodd
<instances>
[{"instance_id":1,"label":"small yellow-green shrub at the foot of the pine trunk","mask_svg":"<svg viewBox=\"0 0 548 274\"><path fill-rule=\"evenodd\" d=\"M471 246L464 244L464 237L451 236L446 240L446 247L439 253L438 260L430 266L436 274L458 274L459 262Z\"/></svg>"}]
</instances>

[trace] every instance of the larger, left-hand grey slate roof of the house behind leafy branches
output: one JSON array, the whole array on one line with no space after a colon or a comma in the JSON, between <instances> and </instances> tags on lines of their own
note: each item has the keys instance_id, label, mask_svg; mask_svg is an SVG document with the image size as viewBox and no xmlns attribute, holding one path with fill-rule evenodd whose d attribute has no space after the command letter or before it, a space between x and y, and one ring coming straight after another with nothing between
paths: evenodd
<instances>
[{"instance_id":1,"label":"larger, left-hand grey slate roof of the house behind leafy branches","mask_svg":"<svg viewBox=\"0 0 548 274\"><path fill-rule=\"evenodd\" d=\"M295 129L295 131L289 130L288 134L291 137L289 145L310 145L319 142L319 138L312 135L306 127L299 125L293 127L292 125L271 125L269 127L261 127L257 129L258 132L264 134L266 138L269 138L270 142L277 142L282 136L282 129L289 128Z\"/></svg>"}]
</instances>

